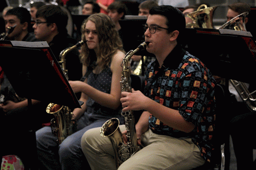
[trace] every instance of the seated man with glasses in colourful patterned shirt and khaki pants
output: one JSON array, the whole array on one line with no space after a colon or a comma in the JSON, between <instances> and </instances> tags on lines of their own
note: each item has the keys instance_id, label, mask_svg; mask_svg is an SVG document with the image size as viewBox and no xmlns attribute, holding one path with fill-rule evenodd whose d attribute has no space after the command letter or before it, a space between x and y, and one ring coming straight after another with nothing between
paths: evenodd
<instances>
[{"instance_id":1,"label":"seated man with glasses in colourful patterned shirt and khaki pants","mask_svg":"<svg viewBox=\"0 0 256 170\"><path fill-rule=\"evenodd\" d=\"M144 147L118 169L192 169L212 160L216 82L181 48L184 14L167 5L149 13L144 35L156 61L148 65L144 94L133 90L121 98L123 112L144 110L136 124L137 143ZM124 125L120 130L127 132ZM112 144L99 128L85 132L81 145L92 169L117 169Z\"/></svg>"}]
</instances>

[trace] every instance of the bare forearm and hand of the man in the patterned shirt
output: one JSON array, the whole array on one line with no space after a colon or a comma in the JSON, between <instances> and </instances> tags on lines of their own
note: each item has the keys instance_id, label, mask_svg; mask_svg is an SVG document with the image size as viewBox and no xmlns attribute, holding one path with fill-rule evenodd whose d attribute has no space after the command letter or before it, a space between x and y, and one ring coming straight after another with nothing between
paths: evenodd
<instances>
[{"instance_id":1,"label":"bare forearm and hand of the man in the patterned shirt","mask_svg":"<svg viewBox=\"0 0 256 170\"><path fill-rule=\"evenodd\" d=\"M184 131L191 132L195 125L186 121L178 110L174 110L159 104L158 102L146 97L140 91L122 92L121 98L123 112L127 110L147 110L150 114L154 115L161 122L169 125L169 127Z\"/></svg>"}]
</instances>

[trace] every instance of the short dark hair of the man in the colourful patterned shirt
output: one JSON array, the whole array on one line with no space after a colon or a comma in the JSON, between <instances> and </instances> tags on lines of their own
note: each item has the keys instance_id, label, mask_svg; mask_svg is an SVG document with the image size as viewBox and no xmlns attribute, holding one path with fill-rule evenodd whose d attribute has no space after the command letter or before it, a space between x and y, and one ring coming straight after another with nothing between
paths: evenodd
<instances>
[{"instance_id":1,"label":"short dark hair of the man in the colourful patterned shirt","mask_svg":"<svg viewBox=\"0 0 256 170\"><path fill-rule=\"evenodd\" d=\"M151 8L149 14L159 14L167 19L166 25L168 26L168 32L179 31L179 35L184 32L186 27L186 21L184 14L174 6L161 5Z\"/></svg>"}]
</instances>

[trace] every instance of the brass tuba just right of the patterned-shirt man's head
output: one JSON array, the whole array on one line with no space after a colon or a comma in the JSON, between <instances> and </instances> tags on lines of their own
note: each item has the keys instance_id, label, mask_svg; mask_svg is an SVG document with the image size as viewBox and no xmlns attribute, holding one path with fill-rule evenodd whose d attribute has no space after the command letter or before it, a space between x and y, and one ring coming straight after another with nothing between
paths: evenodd
<instances>
[{"instance_id":1,"label":"brass tuba just right of the patterned-shirt man's head","mask_svg":"<svg viewBox=\"0 0 256 170\"><path fill-rule=\"evenodd\" d=\"M192 23L186 24L186 28L213 28L213 13L217 7L202 4L196 11L186 14L185 17L193 20Z\"/></svg>"}]
</instances>

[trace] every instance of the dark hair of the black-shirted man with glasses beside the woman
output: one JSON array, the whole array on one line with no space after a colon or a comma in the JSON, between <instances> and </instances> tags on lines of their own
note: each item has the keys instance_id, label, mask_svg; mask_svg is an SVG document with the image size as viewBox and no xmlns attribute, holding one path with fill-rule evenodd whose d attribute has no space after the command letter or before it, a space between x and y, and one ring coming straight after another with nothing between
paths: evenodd
<instances>
[{"instance_id":1,"label":"dark hair of the black-shirted man with glasses beside the woman","mask_svg":"<svg viewBox=\"0 0 256 170\"><path fill-rule=\"evenodd\" d=\"M44 5L37 10L36 18L45 18L47 24L55 23L58 28L58 32L66 32L66 26L68 21L67 13L58 5Z\"/></svg>"}]
</instances>

